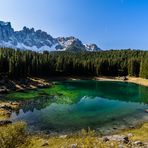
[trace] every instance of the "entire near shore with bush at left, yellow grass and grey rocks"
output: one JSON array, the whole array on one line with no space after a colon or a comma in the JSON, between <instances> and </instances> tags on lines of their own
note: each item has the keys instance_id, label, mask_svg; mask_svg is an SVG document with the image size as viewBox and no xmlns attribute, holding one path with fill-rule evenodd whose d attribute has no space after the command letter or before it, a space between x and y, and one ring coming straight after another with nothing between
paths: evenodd
<instances>
[{"instance_id":1,"label":"entire near shore with bush at left, yellow grass and grey rocks","mask_svg":"<svg viewBox=\"0 0 148 148\"><path fill-rule=\"evenodd\" d=\"M12 130L15 132L13 134ZM23 131L23 132L22 132ZM101 136L93 130L82 130L78 134L49 136L44 134L29 134L26 123L16 122L0 127L0 138L7 142L8 138L15 141L21 140L23 147L114 147L114 148L146 148L148 146L148 124L137 129L127 130L118 134ZM8 134L5 134L7 132ZM140 134L141 133L141 134ZM3 136L6 135L6 136ZM12 142L14 140L11 140ZM23 141L22 141L23 139ZM92 145L93 144L93 145Z\"/></svg>"}]
</instances>

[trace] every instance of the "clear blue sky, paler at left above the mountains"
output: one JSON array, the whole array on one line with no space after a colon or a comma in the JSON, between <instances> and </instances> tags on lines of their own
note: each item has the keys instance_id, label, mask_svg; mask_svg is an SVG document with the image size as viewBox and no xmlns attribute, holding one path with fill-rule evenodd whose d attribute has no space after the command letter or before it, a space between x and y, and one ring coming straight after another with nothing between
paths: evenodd
<instances>
[{"instance_id":1,"label":"clear blue sky, paler at left above the mountains","mask_svg":"<svg viewBox=\"0 0 148 148\"><path fill-rule=\"evenodd\" d=\"M148 0L0 0L0 20L102 49L148 50Z\"/></svg>"}]
</instances>

